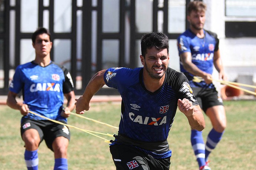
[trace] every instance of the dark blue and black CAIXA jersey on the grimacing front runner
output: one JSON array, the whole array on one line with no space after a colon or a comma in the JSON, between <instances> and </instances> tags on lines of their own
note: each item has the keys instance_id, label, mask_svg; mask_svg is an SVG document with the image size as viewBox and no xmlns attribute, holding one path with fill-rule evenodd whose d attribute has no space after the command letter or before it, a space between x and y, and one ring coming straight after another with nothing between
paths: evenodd
<instances>
[{"instance_id":1,"label":"dark blue and black CAIXA jersey on the grimacing front runner","mask_svg":"<svg viewBox=\"0 0 256 170\"><path fill-rule=\"evenodd\" d=\"M144 86L142 71L143 68L109 68L104 74L106 85L118 89L122 97L118 135L140 142L165 141L178 99L198 103L183 73L168 68L163 85L150 92Z\"/></svg>"}]
</instances>

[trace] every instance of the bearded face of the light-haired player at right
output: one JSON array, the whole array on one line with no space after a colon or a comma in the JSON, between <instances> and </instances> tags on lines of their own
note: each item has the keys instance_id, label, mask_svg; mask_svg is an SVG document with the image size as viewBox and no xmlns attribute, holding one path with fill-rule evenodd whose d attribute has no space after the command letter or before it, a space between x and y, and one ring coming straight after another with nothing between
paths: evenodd
<instances>
[{"instance_id":1,"label":"bearded face of the light-haired player at right","mask_svg":"<svg viewBox=\"0 0 256 170\"><path fill-rule=\"evenodd\" d=\"M187 17L190 26L196 30L201 30L204 27L205 12L204 11L191 11Z\"/></svg>"}]
</instances>

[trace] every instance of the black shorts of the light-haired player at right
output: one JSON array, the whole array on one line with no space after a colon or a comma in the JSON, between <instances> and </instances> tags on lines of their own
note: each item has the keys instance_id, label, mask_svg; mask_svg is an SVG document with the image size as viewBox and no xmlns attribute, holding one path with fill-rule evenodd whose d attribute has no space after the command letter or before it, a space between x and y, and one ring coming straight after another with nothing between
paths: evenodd
<instances>
[{"instance_id":1,"label":"black shorts of the light-haired player at right","mask_svg":"<svg viewBox=\"0 0 256 170\"><path fill-rule=\"evenodd\" d=\"M223 106L223 101L218 92L216 91L216 88L210 89L193 87L192 89L199 103L199 106L201 107L201 109L204 110L205 113L208 108L211 108L213 106Z\"/></svg>"}]
</instances>

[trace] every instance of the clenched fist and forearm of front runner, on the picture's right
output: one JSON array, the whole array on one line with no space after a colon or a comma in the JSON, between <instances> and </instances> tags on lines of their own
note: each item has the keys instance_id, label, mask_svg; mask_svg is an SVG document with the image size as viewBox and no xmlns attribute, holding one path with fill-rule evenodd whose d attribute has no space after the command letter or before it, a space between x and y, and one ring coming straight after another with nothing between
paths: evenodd
<instances>
[{"instance_id":1,"label":"clenched fist and forearm of front runner, on the picture's right","mask_svg":"<svg viewBox=\"0 0 256 170\"><path fill-rule=\"evenodd\" d=\"M188 99L178 99L178 108L187 117L192 129L202 131L205 128L204 115L199 105L193 105Z\"/></svg>"}]
</instances>

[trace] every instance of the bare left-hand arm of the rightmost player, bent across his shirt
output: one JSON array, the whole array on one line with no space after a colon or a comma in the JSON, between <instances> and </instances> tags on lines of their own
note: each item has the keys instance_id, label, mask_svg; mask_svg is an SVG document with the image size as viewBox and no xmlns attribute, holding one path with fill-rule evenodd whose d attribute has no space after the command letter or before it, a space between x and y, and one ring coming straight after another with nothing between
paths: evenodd
<instances>
[{"instance_id":1,"label":"bare left-hand arm of the rightmost player, bent across his shirt","mask_svg":"<svg viewBox=\"0 0 256 170\"><path fill-rule=\"evenodd\" d=\"M207 84L212 83L212 76L204 71L201 71L195 64L192 62L192 56L190 52L184 52L180 54L181 62L183 63L184 69L195 76L202 77Z\"/></svg>"}]
</instances>

